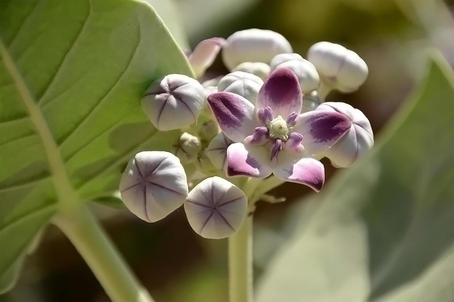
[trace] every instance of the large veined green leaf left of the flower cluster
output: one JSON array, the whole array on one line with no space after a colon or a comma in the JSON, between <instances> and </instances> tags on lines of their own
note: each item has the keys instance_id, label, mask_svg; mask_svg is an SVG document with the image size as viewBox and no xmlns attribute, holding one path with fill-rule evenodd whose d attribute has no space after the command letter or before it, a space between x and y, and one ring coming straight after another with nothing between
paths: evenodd
<instances>
[{"instance_id":1,"label":"large veined green leaf left of the flower cluster","mask_svg":"<svg viewBox=\"0 0 454 302\"><path fill-rule=\"evenodd\" d=\"M168 149L178 131L154 129L140 99L154 79L192 72L146 3L1 1L0 14L4 280L69 191L109 196L134 153Z\"/></svg>"}]
</instances>

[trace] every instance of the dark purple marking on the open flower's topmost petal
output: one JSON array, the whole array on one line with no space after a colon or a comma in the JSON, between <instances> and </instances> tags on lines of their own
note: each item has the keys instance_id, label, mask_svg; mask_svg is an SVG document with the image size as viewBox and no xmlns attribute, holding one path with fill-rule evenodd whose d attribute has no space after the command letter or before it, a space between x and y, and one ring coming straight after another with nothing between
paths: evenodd
<instances>
[{"instance_id":1,"label":"dark purple marking on the open flower's topmost petal","mask_svg":"<svg viewBox=\"0 0 454 302\"><path fill-rule=\"evenodd\" d=\"M302 98L298 77L289 68L278 68L271 72L262 89L265 96L276 105L290 105Z\"/></svg>"}]
</instances>

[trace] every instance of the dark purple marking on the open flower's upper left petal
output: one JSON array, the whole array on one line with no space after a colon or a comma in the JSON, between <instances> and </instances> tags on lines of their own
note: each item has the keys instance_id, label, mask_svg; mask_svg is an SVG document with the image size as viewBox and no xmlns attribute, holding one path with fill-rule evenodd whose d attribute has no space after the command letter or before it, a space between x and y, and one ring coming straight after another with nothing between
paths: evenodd
<instances>
[{"instance_id":1,"label":"dark purple marking on the open flower's upper left petal","mask_svg":"<svg viewBox=\"0 0 454 302\"><path fill-rule=\"evenodd\" d=\"M245 108L234 93L215 92L209 95L207 100L219 124L233 128L241 127Z\"/></svg>"}]
</instances>

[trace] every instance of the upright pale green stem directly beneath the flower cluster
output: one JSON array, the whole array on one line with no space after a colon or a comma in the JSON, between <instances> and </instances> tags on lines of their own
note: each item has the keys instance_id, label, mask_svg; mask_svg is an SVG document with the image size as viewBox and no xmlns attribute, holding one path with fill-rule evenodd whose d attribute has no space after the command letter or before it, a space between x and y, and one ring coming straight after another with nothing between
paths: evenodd
<instances>
[{"instance_id":1,"label":"upright pale green stem directly beneath the flower cluster","mask_svg":"<svg viewBox=\"0 0 454 302\"><path fill-rule=\"evenodd\" d=\"M228 239L230 302L252 301L252 213L255 203L252 195L261 181L261 179L249 178L244 184L243 191L249 201L249 213L242 227Z\"/></svg>"}]
</instances>

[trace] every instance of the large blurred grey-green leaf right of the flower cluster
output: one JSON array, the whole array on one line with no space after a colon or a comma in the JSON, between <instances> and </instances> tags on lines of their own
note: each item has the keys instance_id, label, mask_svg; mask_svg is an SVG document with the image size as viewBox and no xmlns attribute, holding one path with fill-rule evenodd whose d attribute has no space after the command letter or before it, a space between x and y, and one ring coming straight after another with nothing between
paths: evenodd
<instances>
[{"instance_id":1,"label":"large blurred grey-green leaf right of the flower cluster","mask_svg":"<svg viewBox=\"0 0 454 302\"><path fill-rule=\"evenodd\" d=\"M453 78L431 61L375 149L308 201L310 216L292 209L305 219L257 301L452 301Z\"/></svg>"}]
</instances>

